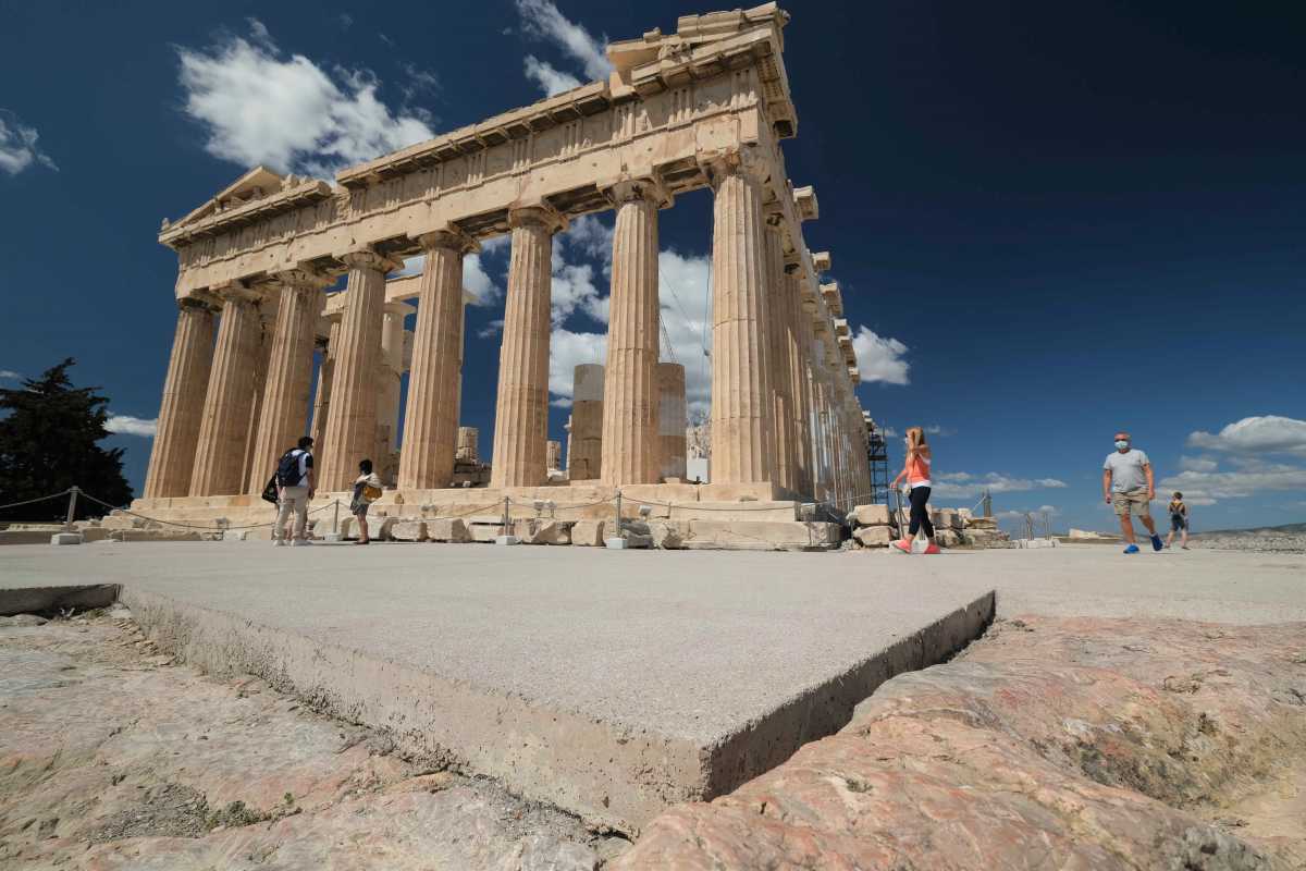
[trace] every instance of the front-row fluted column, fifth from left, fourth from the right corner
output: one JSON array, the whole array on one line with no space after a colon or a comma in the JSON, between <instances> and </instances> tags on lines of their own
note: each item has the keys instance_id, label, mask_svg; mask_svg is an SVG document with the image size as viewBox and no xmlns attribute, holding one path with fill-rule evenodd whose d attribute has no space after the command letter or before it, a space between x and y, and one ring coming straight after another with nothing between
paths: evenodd
<instances>
[{"instance_id":1,"label":"front-row fluted column, fifth from left, fourth from the right corner","mask_svg":"<svg viewBox=\"0 0 1306 871\"><path fill-rule=\"evenodd\" d=\"M453 477L462 377L462 256L475 243L449 231L419 242L426 265L413 334L400 487L431 490L448 487Z\"/></svg>"}]
</instances>

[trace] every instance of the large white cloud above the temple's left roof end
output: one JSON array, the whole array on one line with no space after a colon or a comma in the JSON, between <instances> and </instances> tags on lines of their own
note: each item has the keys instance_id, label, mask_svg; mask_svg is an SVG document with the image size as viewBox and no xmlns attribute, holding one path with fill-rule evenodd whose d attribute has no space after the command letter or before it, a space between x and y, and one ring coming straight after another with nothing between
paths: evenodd
<instances>
[{"instance_id":1,"label":"large white cloud above the temple's left roof end","mask_svg":"<svg viewBox=\"0 0 1306 871\"><path fill-rule=\"evenodd\" d=\"M393 115L370 72L328 74L303 55L285 59L257 20L249 29L249 39L178 48L184 111L204 125L205 150L214 157L330 176L434 136L422 118Z\"/></svg>"}]
</instances>

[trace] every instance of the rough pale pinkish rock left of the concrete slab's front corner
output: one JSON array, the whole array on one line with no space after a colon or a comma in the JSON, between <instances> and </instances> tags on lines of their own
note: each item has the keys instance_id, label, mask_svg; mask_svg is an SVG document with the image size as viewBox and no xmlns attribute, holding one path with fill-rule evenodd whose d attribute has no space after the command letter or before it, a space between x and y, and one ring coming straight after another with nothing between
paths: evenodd
<instances>
[{"instance_id":1,"label":"rough pale pinkish rock left of the concrete slab's front corner","mask_svg":"<svg viewBox=\"0 0 1306 871\"><path fill-rule=\"evenodd\" d=\"M170 662L129 619L0 629L0 867L593 871L624 844Z\"/></svg>"}]
</instances>

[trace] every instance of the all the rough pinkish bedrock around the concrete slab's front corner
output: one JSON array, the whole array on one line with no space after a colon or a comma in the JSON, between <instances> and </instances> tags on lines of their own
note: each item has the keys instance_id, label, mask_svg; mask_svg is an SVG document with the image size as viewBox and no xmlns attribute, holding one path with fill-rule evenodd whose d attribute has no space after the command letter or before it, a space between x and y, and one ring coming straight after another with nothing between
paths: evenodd
<instances>
[{"instance_id":1,"label":"all the rough pinkish bedrock around the concrete slab's front corner","mask_svg":"<svg viewBox=\"0 0 1306 871\"><path fill-rule=\"evenodd\" d=\"M25 626L26 624L26 626ZM1306 626L1024 618L633 847L128 619L0 618L0 867L1306 868Z\"/></svg>"}]
</instances>

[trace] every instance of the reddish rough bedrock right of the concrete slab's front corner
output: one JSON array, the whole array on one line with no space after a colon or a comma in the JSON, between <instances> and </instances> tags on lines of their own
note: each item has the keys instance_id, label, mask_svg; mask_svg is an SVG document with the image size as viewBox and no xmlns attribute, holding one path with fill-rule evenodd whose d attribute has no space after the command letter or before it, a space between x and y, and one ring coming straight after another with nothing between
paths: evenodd
<instances>
[{"instance_id":1,"label":"reddish rough bedrock right of the concrete slab's front corner","mask_svg":"<svg viewBox=\"0 0 1306 871\"><path fill-rule=\"evenodd\" d=\"M1025 618L615 868L1306 868L1306 624Z\"/></svg>"}]
</instances>

